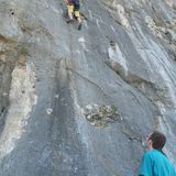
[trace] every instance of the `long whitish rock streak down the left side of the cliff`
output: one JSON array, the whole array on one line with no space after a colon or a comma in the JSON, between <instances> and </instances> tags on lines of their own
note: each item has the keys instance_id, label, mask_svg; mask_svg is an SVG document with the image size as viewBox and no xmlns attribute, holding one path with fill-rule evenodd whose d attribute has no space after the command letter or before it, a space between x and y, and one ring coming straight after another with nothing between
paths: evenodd
<instances>
[{"instance_id":1,"label":"long whitish rock streak down the left side of the cliff","mask_svg":"<svg viewBox=\"0 0 176 176\"><path fill-rule=\"evenodd\" d=\"M35 74L32 65L16 66L12 73L10 109L0 140L0 157L13 151L18 140L25 132L32 107L36 103L34 89Z\"/></svg>"}]
</instances>

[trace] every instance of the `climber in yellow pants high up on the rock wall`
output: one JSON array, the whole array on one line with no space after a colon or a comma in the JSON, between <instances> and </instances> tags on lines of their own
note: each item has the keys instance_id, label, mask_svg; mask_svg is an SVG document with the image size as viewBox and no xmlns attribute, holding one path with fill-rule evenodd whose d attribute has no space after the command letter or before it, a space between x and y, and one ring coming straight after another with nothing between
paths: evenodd
<instances>
[{"instance_id":1,"label":"climber in yellow pants high up on the rock wall","mask_svg":"<svg viewBox=\"0 0 176 176\"><path fill-rule=\"evenodd\" d=\"M66 0L67 3L67 9L68 9L68 16L69 20L67 23L73 22L74 16L78 20L78 30L81 30L81 18L79 13L79 8L80 8L80 1L79 0Z\"/></svg>"}]
</instances>

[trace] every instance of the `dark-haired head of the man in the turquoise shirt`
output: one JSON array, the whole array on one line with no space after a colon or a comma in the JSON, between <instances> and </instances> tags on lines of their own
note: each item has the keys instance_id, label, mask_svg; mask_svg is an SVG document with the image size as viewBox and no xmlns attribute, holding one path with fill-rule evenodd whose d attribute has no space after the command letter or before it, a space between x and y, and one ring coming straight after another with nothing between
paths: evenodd
<instances>
[{"instance_id":1,"label":"dark-haired head of the man in the turquoise shirt","mask_svg":"<svg viewBox=\"0 0 176 176\"><path fill-rule=\"evenodd\" d=\"M162 152L162 148L164 147L166 143L166 136L158 132L154 131L150 133L150 135L146 139L147 150L157 150Z\"/></svg>"}]
</instances>

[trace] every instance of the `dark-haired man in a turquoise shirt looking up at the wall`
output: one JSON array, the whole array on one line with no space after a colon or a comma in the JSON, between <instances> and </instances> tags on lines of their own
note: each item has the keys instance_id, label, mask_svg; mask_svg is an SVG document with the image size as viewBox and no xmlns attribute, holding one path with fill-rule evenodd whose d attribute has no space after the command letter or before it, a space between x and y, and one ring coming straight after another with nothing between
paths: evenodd
<instances>
[{"instance_id":1,"label":"dark-haired man in a turquoise shirt looking up at the wall","mask_svg":"<svg viewBox=\"0 0 176 176\"><path fill-rule=\"evenodd\" d=\"M166 136L157 131L146 138L146 153L143 156L139 176L176 176L176 169L163 152Z\"/></svg>"}]
</instances>

